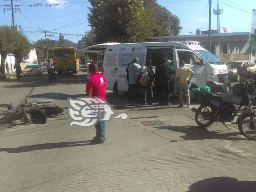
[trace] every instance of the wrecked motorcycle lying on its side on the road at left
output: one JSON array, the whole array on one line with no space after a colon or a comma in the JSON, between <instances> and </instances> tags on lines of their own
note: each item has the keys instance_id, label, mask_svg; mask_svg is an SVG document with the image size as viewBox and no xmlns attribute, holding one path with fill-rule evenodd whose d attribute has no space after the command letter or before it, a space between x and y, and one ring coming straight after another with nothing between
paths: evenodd
<instances>
[{"instance_id":1,"label":"wrecked motorcycle lying on its side on the road at left","mask_svg":"<svg viewBox=\"0 0 256 192\"><path fill-rule=\"evenodd\" d=\"M46 123L47 117L66 114L66 107L50 105L51 100L37 102L23 101L16 109L12 104L0 104L0 123L12 123L15 120L21 120L24 123L32 123L36 120L38 123Z\"/></svg>"}]
</instances>

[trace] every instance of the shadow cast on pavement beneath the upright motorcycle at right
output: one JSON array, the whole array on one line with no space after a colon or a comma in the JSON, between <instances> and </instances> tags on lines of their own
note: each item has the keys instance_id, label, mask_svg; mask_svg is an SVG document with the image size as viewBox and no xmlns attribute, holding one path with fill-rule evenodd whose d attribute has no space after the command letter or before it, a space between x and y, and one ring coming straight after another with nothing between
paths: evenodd
<instances>
[{"instance_id":1,"label":"shadow cast on pavement beneath the upright motorcycle at right","mask_svg":"<svg viewBox=\"0 0 256 192\"><path fill-rule=\"evenodd\" d=\"M219 131L208 131L207 129L203 129L198 126L161 126L161 127L154 127L154 128L168 129L170 131L185 133L186 135L180 136L184 140L204 140L204 139L219 139L219 140L233 140L233 141L248 140L247 138L232 137L232 136L241 135L240 132L220 133Z\"/></svg>"}]
</instances>

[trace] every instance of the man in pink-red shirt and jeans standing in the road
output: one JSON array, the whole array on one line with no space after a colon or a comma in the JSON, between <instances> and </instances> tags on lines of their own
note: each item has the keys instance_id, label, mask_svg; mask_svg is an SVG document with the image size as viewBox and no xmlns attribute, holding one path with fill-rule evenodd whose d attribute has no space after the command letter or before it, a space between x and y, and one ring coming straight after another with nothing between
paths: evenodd
<instances>
[{"instance_id":1,"label":"man in pink-red shirt and jeans standing in the road","mask_svg":"<svg viewBox=\"0 0 256 192\"><path fill-rule=\"evenodd\" d=\"M91 63L89 65L89 72L91 77L86 83L86 96L87 97L100 97L106 100L106 87L107 80L98 71L98 65ZM99 121L96 125L96 136L93 137L91 144L104 143L106 125L104 121Z\"/></svg>"}]
</instances>

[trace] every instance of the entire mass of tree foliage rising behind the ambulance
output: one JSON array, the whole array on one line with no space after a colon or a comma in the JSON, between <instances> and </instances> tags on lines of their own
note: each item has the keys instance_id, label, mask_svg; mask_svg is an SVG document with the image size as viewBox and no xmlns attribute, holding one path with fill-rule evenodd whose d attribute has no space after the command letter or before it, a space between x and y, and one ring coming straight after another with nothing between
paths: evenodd
<instances>
[{"instance_id":1,"label":"entire mass of tree foliage rising behind the ambulance","mask_svg":"<svg viewBox=\"0 0 256 192\"><path fill-rule=\"evenodd\" d=\"M85 47L108 41L142 42L149 36L178 35L179 18L156 0L88 0L92 28L82 42Z\"/></svg>"}]
</instances>

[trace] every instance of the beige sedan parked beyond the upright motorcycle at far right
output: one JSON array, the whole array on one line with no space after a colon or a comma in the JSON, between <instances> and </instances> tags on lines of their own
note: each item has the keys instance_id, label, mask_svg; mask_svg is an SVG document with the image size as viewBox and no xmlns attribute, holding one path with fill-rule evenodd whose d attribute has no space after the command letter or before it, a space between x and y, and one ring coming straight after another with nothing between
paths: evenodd
<instances>
[{"instance_id":1,"label":"beige sedan parked beyond the upright motorcycle at far right","mask_svg":"<svg viewBox=\"0 0 256 192\"><path fill-rule=\"evenodd\" d=\"M230 81L239 81L240 76L237 74L237 67L246 67L248 71L256 74L256 65L253 61L232 61L227 63L228 78Z\"/></svg>"}]
</instances>

